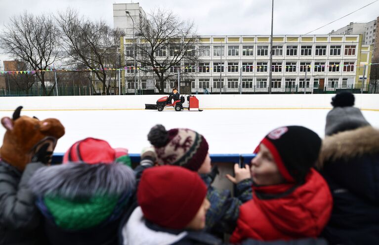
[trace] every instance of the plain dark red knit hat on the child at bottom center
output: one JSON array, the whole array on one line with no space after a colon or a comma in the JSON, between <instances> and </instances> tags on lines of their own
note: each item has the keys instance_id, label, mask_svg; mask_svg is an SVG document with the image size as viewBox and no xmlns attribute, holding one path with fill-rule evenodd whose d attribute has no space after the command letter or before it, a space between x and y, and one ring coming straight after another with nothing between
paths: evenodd
<instances>
[{"instance_id":1,"label":"plain dark red knit hat on the child at bottom center","mask_svg":"<svg viewBox=\"0 0 379 245\"><path fill-rule=\"evenodd\" d=\"M150 222L183 229L195 217L206 195L207 187L197 173L163 165L143 171L137 201Z\"/></svg>"}]
</instances>

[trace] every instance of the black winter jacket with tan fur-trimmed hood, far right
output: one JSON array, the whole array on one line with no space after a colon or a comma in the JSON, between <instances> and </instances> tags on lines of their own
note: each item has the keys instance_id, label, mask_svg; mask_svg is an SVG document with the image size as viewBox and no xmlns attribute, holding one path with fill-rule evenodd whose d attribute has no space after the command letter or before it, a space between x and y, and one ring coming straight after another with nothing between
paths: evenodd
<instances>
[{"instance_id":1,"label":"black winter jacket with tan fur-trimmed hood, far right","mask_svg":"<svg viewBox=\"0 0 379 245\"><path fill-rule=\"evenodd\" d=\"M326 137L318 164L334 202L323 236L330 244L379 244L379 130Z\"/></svg>"}]
</instances>

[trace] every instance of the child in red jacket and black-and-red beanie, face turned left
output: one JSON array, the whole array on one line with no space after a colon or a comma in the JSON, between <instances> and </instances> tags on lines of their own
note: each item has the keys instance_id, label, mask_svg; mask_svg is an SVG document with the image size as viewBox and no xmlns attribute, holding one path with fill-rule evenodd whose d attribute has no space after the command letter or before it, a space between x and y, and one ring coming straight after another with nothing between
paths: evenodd
<instances>
[{"instance_id":1,"label":"child in red jacket and black-and-red beanie, face turned left","mask_svg":"<svg viewBox=\"0 0 379 245\"><path fill-rule=\"evenodd\" d=\"M253 199L240 208L232 243L316 238L321 233L332 197L312 168L320 147L320 137L302 126L280 127L263 138L251 162Z\"/></svg>"}]
</instances>

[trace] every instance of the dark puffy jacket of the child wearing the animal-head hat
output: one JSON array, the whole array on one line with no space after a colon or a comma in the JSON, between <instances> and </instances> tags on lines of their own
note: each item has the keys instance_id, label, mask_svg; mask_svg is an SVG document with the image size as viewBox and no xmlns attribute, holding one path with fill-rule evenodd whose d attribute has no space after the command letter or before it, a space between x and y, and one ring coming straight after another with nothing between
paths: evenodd
<instances>
[{"instance_id":1,"label":"dark puffy jacket of the child wearing the animal-head hat","mask_svg":"<svg viewBox=\"0 0 379 245\"><path fill-rule=\"evenodd\" d=\"M0 245L44 244L41 214L28 181L42 163L29 163L20 172L0 161Z\"/></svg>"}]
</instances>

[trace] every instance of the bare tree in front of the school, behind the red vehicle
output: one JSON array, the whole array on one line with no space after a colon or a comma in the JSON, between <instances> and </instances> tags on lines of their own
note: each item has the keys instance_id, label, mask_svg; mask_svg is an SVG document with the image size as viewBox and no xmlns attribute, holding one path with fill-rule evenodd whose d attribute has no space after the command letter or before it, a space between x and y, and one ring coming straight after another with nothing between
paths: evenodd
<instances>
[{"instance_id":1,"label":"bare tree in front of the school, behind the red vehicle","mask_svg":"<svg viewBox=\"0 0 379 245\"><path fill-rule=\"evenodd\" d=\"M156 75L159 82L155 86L159 93L164 93L165 82L177 77L177 69L184 61L188 63L187 69L180 70L180 73L196 69L197 36L193 22L180 20L171 11L157 9L147 19L140 20L136 34L139 39L132 45L136 45L139 70ZM132 45L126 48L130 49ZM126 58L130 59L132 55L133 52L129 52Z\"/></svg>"}]
</instances>

